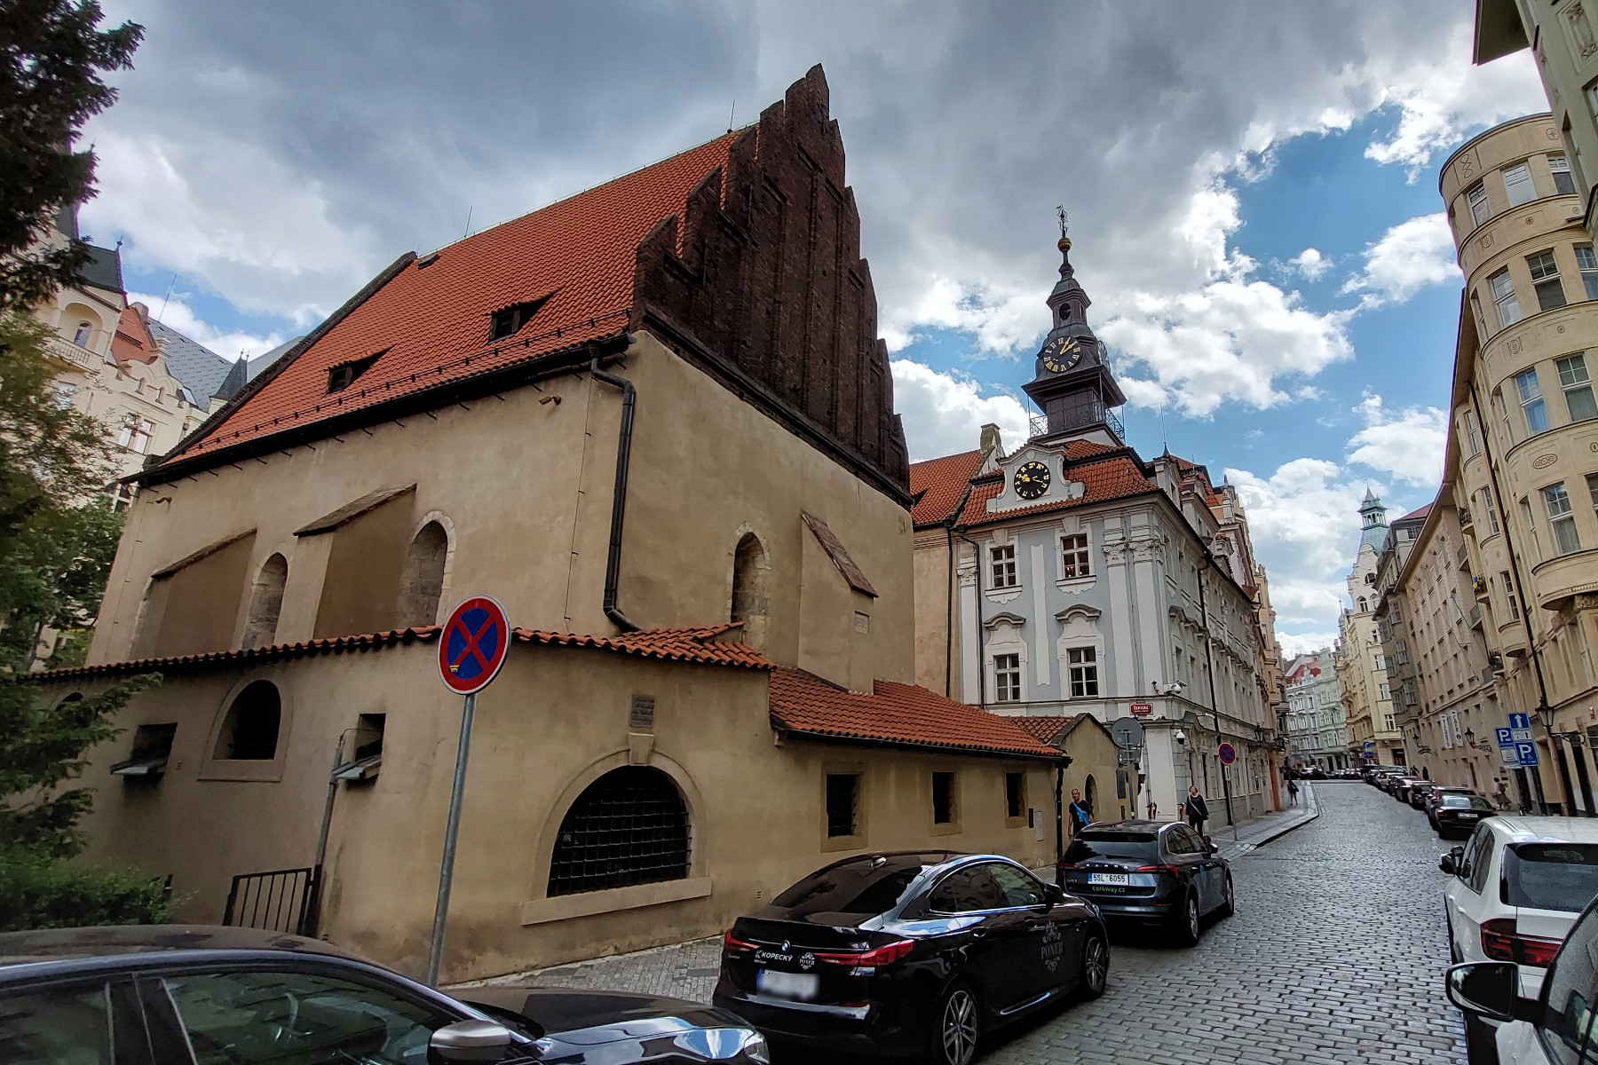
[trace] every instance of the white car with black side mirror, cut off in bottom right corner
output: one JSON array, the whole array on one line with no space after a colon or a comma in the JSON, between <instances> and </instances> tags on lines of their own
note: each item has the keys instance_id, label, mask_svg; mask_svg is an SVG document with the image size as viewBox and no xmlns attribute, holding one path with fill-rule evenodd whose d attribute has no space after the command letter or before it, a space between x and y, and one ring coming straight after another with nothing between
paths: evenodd
<instances>
[{"instance_id":1,"label":"white car with black side mirror, cut off in bottom right corner","mask_svg":"<svg viewBox=\"0 0 1598 1065\"><path fill-rule=\"evenodd\" d=\"M1448 971L1448 1000L1465 1011L1467 1027L1497 1022L1502 1065L1569 1065L1598 1060L1598 902L1587 907L1555 955L1536 1000L1517 988L1520 968L1472 961Z\"/></svg>"}]
</instances>

